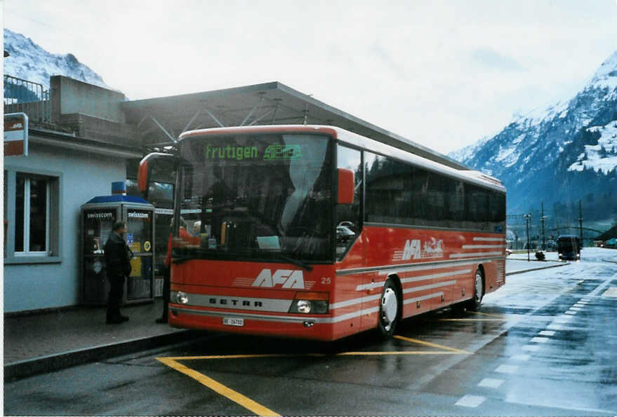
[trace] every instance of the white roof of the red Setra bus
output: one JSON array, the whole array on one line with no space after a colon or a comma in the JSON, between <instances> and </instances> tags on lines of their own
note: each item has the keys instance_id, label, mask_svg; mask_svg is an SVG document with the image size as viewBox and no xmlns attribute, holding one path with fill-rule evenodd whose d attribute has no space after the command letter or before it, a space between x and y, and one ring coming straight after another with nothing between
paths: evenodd
<instances>
[{"instance_id":1,"label":"white roof of the red Setra bus","mask_svg":"<svg viewBox=\"0 0 617 417\"><path fill-rule=\"evenodd\" d=\"M244 127L230 127L230 128L210 128L201 130L190 130L180 135L178 141L190 137L203 137L210 135L250 135L256 133L275 133L275 132L289 132L289 133L312 133L324 135L331 135L340 142L345 142L352 146L357 146L367 151L373 151L375 153L381 153L385 156L391 156L399 160L404 160L413 165L418 165L427 170L439 172L449 177L455 177L465 182L484 186L496 191L505 192L505 187L496 178L486 175L477 170L462 170L446 165L440 158L426 158L413 153L411 150L406 151L398 147L390 146L383 142L378 142L375 139L358 135L357 133L350 132L343 128L327 125L258 125L258 126L244 126ZM430 156L427 155L427 156Z\"/></svg>"}]
</instances>

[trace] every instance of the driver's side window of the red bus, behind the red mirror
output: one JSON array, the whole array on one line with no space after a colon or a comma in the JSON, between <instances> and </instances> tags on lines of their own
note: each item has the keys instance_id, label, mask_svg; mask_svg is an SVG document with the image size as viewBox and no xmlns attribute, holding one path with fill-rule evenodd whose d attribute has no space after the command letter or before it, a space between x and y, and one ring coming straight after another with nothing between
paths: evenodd
<instances>
[{"instance_id":1,"label":"driver's side window of the red bus, behind the red mirror","mask_svg":"<svg viewBox=\"0 0 617 417\"><path fill-rule=\"evenodd\" d=\"M340 261L360 234L362 163L360 151L338 146L337 168L354 172L354 203L336 206L336 259Z\"/></svg>"}]
</instances>

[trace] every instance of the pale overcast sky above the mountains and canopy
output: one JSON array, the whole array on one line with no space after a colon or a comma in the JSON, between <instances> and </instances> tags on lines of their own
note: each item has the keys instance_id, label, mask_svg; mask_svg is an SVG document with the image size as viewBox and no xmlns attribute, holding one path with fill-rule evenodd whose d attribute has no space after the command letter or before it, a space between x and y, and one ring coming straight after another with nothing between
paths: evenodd
<instances>
[{"instance_id":1,"label":"pale overcast sky above the mountains and canopy","mask_svg":"<svg viewBox=\"0 0 617 417\"><path fill-rule=\"evenodd\" d=\"M616 0L4 0L4 27L131 100L280 81L448 153L569 100Z\"/></svg>"}]
</instances>

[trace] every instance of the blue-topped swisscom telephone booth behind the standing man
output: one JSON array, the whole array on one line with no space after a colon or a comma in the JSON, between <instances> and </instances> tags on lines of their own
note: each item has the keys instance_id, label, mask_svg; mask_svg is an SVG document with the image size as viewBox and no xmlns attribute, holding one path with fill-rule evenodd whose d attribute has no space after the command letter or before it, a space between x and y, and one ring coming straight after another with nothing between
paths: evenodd
<instances>
[{"instance_id":1,"label":"blue-topped swisscom telephone booth behind the standing man","mask_svg":"<svg viewBox=\"0 0 617 417\"><path fill-rule=\"evenodd\" d=\"M140 197L95 197L81 206L82 303L105 304L110 292L103 248L112 225L124 220L124 239L133 252L124 303L154 299L154 206Z\"/></svg>"}]
</instances>

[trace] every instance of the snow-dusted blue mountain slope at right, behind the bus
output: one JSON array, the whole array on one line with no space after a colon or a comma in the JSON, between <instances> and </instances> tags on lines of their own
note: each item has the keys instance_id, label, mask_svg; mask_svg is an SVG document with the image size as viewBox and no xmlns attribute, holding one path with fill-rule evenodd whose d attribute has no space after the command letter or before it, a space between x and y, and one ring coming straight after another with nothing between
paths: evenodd
<instances>
[{"instance_id":1,"label":"snow-dusted blue mountain slope at right, behind the bus","mask_svg":"<svg viewBox=\"0 0 617 417\"><path fill-rule=\"evenodd\" d=\"M615 217L617 51L571 100L517 116L497 135L449 156L501 179L512 214L583 200Z\"/></svg>"}]
</instances>

